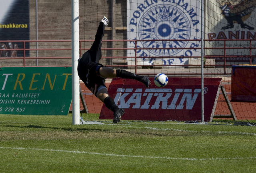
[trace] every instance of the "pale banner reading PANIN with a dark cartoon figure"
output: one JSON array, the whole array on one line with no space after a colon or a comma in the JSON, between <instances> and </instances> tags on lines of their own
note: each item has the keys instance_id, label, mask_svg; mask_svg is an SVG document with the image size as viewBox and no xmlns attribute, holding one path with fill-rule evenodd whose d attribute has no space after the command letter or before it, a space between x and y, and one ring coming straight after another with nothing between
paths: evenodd
<instances>
[{"instance_id":1,"label":"pale banner reading PANIN with a dark cartoon figure","mask_svg":"<svg viewBox=\"0 0 256 173\"><path fill-rule=\"evenodd\" d=\"M249 56L256 55L255 8L256 0L206 1L205 46L215 49L206 49L205 54L213 55L216 64L224 64L224 56L228 65L249 64ZM252 64L255 61L252 58Z\"/></svg>"}]
</instances>

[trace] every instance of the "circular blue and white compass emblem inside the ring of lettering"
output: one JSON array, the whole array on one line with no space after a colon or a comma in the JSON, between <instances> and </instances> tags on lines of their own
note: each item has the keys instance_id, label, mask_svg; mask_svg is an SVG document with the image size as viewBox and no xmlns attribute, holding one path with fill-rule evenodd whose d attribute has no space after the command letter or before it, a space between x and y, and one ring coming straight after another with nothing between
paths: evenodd
<instances>
[{"instance_id":1,"label":"circular blue and white compass emblem inside the ring of lettering","mask_svg":"<svg viewBox=\"0 0 256 173\"><path fill-rule=\"evenodd\" d=\"M185 40L190 40L191 36L191 24L188 16L181 9L172 5L152 6L150 10L144 12L138 26L139 40L145 40L141 42L143 47L150 48L148 51L155 56L173 56L181 52L180 48L186 47L188 41Z\"/></svg>"}]
</instances>

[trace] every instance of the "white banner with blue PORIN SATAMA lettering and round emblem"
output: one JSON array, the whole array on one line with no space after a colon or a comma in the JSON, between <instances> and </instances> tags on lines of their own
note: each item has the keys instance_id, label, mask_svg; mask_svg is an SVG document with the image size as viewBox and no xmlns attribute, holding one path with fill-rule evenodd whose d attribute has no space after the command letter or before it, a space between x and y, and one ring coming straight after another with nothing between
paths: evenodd
<instances>
[{"instance_id":1,"label":"white banner with blue PORIN SATAMA lettering and round emblem","mask_svg":"<svg viewBox=\"0 0 256 173\"><path fill-rule=\"evenodd\" d=\"M201 57L201 42L194 41L201 40L201 2L128 0L127 38L127 56L138 57L138 65L191 64Z\"/></svg>"}]
</instances>

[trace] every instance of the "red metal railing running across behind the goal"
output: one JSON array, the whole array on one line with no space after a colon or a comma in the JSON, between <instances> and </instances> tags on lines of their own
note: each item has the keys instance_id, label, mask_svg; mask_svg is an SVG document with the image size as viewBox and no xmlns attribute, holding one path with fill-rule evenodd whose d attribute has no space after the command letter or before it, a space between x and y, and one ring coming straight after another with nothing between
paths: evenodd
<instances>
[{"instance_id":1,"label":"red metal railing running across behind the goal","mask_svg":"<svg viewBox=\"0 0 256 173\"><path fill-rule=\"evenodd\" d=\"M80 40L80 56L82 56L82 54L84 52L86 52L87 50L90 49L90 46L86 46L88 48L85 48L85 46L82 46L82 44L86 43L86 42L90 42L89 45L92 44L94 40ZM131 40L102 40L102 42L106 42L105 44L108 44L108 42L130 42ZM150 41L156 41L156 40L146 40L147 42L150 42ZM157 40L157 41L169 41L169 42L172 42L172 41L179 41L179 42L182 42L182 41L186 41L186 42L200 42L201 40ZM223 68L224 69L224 72L223 74L228 74L228 72L226 71L226 68L229 68L232 66L232 64L227 64L227 59L228 58L249 58L249 61L247 62L248 64L252 64L253 63L253 60L254 58L256 58L256 55L255 55L255 49L256 47L252 46L252 42L255 40L249 40L249 39L245 39L245 40L242 40L242 41L247 41L249 42L249 46L246 46L246 47L241 47L241 46L237 46L237 47L233 47L233 48L230 48L230 47L227 47L226 46L226 43L227 42L230 42L230 41L241 41L241 40L225 40L225 39L222 39L222 40L204 40L205 42L214 42L214 41L218 41L218 42L223 42L223 46L218 46L218 47L205 47L204 48L204 51L214 51L214 50L221 50L222 51L222 54L212 54L212 55L204 55L204 58L209 58L209 59L215 59L215 58L223 58L223 63L215 63L215 64L204 64L204 68L212 68L213 66L214 67L219 67L219 68ZM18 65L13 65L11 67L31 67L31 66L36 66L36 65L31 65L31 64L27 64L27 61L28 60L45 60L47 61L47 59L51 59L51 60L54 60L54 59L71 59L71 40L3 40L3 41L0 41L0 43L8 43L8 42L12 42L12 43L16 43L16 44L19 44L19 48L7 48L7 49L0 49L0 52L3 52L3 51L18 51L19 54L18 54L18 57L0 57L0 60L7 60L7 61L12 61L12 60L22 60L22 63L18 64ZM189 50L191 48L138 48L136 45L138 42L145 42L145 40L132 40L132 42L135 42L135 46L134 48L102 48L102 51L113 51L113 50L122 50L122 51L127 51L127 50L134 50L134 52L137 52L139 50L148 50L148 49L153 49L153 50L158 50L158 49L162 49L162 50L180 50L180 49L183 49L183 50ZM36 47L35 45L31 45L31 44L36 44L36 43L44 43L44 44L54 44L54 46L50 46L50 45L43 45L43 46L39 46L40 48L33 48L33 47ZM26 48L26 45L27 44L30 44L30 48ZM63 44L63 45L62 45ZM52 47L58 47L59 45L62 45L62 47L64 48L52 48ZM205 44L204 44L205 45ZM49 48L51 47L51 48ZM106 47L106 46L105 46ZM200 47L199 48L192 48L192 49L201 49ZM245 54L245 55L229 55L227 54L227 51L228 50L234 50L234 49L240 49L240 50L246 50L247 52L249 52L248 54ZM26 54L28 54L28 52L44 52L44 51L61 51L62 54L60 54L60 56L36 56L37 54L36 53L30 53L30 56L26 56ZM0 54L1 55L1 54ZM70 55L70 56L69 56ZM162 64L153 64L153 65L141 65L141 64L138 64L137 60L138 58L141 58L141 57L138 57L137 54L134 54L135 56L103 56L102 58L105 58L105 59L116 59L116 58L133 58L134 59L134 65L128 65L128 64L122 64L122 65L118 65L118 64L110 64L109 66L112 66L112 67L125 67L125 68L134 68L135 69L135 73L137 73L137 69L138 68L143 68L144 66L146 67L149 67L149 68L161 68L161 67L183 67L183 68L188 68L188 67L193 67L193 68L200 68L201 67L201 64L171 64L171 65L162 65ZM143 58L152 58L152 56L145 56ZM154 56L153 58L156 58L156 59L160 59L160 58L180 58L180 56L170 56L170 57L166 57L166 56ZM182 58L201 58L201 56L183 56ZM6 66L6 65L2 65L0 63L0 66L2 67L10 67L10 66ZM37 65L37 66L71 66L71 64L60 64L60 65Z\"/></svg>"}]
</instances>

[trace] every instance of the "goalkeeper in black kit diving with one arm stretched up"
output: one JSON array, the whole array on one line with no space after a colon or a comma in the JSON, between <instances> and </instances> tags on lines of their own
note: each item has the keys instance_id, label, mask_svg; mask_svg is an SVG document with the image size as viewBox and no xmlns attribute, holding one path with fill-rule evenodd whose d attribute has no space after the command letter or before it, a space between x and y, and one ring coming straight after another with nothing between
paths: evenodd
<instances>
[{"instance_id":1,"label":"goalkeeper in black kit diving with one arm stretched up","mask_svg":"<svg viewBox=\"0 0 256 173\"><path fill-rule=\"evenodd\" d=\"M104 16L98 26L92 47L78 60L78 76L86 87L88 87L98 99L105 103L108 109L113 111L113 122L118 123L125 112L124 109L118 108L114 100L109 97L105 86L105 79L116 77L134 79L142 82L146 87L149 87L150 80L146 76L139 76L126 70L113 70L112 68L99 64L102 57L101 46L106 25L108 25L108 19Z\"/></svg>"}]
</instances>

